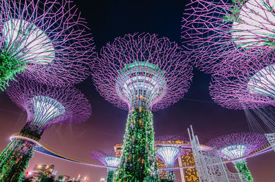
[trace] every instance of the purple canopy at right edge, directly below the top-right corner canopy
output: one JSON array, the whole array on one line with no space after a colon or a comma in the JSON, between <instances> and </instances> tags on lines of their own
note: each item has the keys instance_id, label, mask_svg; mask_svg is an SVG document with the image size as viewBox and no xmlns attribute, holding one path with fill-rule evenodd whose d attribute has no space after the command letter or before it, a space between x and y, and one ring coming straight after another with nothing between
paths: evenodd
<instances>
[{"instance_id":1,"label":"purple canopy at right edge, directly below the top-right corner canopy","mask_svg":"<svg viewBox=\"0 0 275 182\"><path fill-rule=\"evenodd\" d=\"M250 62L250 67L239 67L235 76L214 76L210 95L214 102L228 109L254 109L274 106L274 65Z\"/></svg>"}]
</instances>

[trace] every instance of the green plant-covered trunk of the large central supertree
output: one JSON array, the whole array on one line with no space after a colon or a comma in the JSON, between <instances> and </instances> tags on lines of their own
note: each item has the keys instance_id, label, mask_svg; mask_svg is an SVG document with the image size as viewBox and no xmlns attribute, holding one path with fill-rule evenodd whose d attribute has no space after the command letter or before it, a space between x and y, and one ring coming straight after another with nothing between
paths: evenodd
<instances>
[{"instance_id":1,"label":"green plant-covered trunk of the large central supertree","mask_svg":"<svg viewBox=\"0 0 275 182\"><path fill-rule=\"evenodd\" d=\"M156 172L153 114L144 107L136 107L128 115L121 164L115 181L144 181L155 176Z\"/></svg>"}]
</instances>

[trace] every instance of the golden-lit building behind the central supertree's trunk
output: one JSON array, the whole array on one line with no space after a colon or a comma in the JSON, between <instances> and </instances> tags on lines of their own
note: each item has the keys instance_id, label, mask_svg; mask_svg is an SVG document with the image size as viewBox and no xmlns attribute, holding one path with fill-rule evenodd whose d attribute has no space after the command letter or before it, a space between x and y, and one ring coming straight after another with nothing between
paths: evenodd
<instances>
[{"instance_id":1,"label":"golden-lit building behind the central supertree's trunk","mask_svg":"<svg viewBox=\"0 0 275 182\"><path fill-rule=\"evenodd\" d=\"M177 146L181 146L181 157L177 158L175 162L175 166L195 166L194 157L192 154L192 147L190 142L177 140L177 141L156 141L155 142L155 150L159 148L159 146L165 144L175 144ZM117 144L114 146L115 150L115 157L120 157L122 144ZM167 172L166 170L162 170L165 168L165 163L162 159L157 157L157 168L159 168L159 179L167 179ZM197 174L197 168L187 168L187 169L180 169L180 176L181 182L199 182L199 177Z\"/></svg>"}]
</instances>

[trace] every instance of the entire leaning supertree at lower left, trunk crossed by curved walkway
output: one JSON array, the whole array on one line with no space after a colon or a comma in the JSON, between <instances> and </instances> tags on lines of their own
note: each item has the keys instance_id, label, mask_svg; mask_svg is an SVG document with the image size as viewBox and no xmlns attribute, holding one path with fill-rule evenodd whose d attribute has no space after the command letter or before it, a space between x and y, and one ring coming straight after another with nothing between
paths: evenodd
<instances>
[{"instance_id":1,"label":"entire leaning supertree at lower left, trunk crossed by curved walkway","mask_svg":"<svg viewBox=\"0 0 275 182\"><path fill-rule=\"evenodd\" d=\"M12 101L28 117L20 132L0 155L0 181L21 181L32 158L34 141L52 124L83 122L91 114L85 96L72 87L50 87L24 77L11 82L6 90ZM32 139L32 140L30 140Z\"/></svg>"}]
</instances>

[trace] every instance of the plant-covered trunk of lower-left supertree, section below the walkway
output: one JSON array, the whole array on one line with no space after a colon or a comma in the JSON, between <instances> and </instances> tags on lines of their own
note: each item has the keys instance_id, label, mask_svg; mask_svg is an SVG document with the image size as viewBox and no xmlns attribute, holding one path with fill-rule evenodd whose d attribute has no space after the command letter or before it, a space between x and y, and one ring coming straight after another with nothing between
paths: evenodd
<instances>
[{"instance_id":1,"label":"plant-covered trunk of lower-left supertree, section below the walkway","mask_svg":"<svg viewBox=\"0 0 275 182\"><path fill-rule=\"evenodd\" d=\"M0 155L0 181L22 181L35 144L25 139L14 139Z\"/></svg>"}]
</instances>

